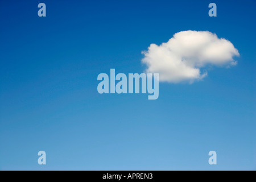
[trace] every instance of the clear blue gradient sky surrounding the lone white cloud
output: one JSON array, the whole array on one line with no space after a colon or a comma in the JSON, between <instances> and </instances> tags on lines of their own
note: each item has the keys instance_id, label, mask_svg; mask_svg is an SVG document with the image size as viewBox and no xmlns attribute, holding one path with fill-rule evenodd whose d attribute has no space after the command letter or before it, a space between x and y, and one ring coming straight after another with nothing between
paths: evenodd
<instances>
[{"instance_id":1,"label":"clear blue gradient sky surrounding the lone white cloud","mask_svg":"<svg viewBox=\"0 0 256 182\"><path fill-rule=\"evenodd\" d=\"M1 1L0 169L255 170L255 5ZM228 39L238 64L193 84L160 82L158 100L97 92L98 74L142 73L141 52L185 30Z\"/></svg>"}]
</instances>

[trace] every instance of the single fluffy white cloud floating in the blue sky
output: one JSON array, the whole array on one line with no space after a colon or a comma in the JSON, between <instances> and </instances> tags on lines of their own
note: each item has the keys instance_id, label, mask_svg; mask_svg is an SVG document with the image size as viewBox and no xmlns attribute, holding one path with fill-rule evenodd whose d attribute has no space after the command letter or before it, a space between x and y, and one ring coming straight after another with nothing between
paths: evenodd
<instances>
[{"instance_id":1,"label":"single fluffy white cloud floating in the blue sky","mask_svg":"<svg viewBox=\"0 0 256 182\"><path fill-rule=\"evenodd\" d=\"M142 63L147 73L159 73L159 81L181 82L201 80L207 72L201 68L207 65L236 65L233 56L238 50L229 40L219 39L209 31L181 31L167 43L160 46L150 44L142 52Z\"/></svg>"}]
</instances>

